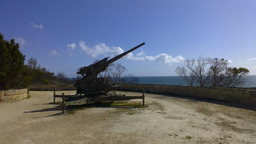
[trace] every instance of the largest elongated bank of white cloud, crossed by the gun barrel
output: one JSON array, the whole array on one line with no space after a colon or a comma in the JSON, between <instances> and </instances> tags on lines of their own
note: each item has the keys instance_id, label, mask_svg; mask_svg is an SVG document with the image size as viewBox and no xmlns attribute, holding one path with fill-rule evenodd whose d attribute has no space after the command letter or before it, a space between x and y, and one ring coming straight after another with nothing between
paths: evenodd
<instances>
[{"instance_id":1,"label":"largest elongated bank of white cloud, crossed by the gun barrel","mask_svg":"<svg viewBox=\"0 0 256 144\"><path fill-rule=\"evenodd\" d=\"M79 42L79 46L81 48L82 51L84 51L87 55L96 58L98 55L105 55L108 56L110 55L111 58L115 57L118 54L121 54L123 52L125 52L121 47L108 47L106 46L105 43L99 43L96 44L93 47L88 47L85 45L84 41L80 41ZM167 63L169 65L171 65L172 63L179 63L182 60L185 60L185 58L183 58L182 56L178 55L177 57L172 57L171 55L167 55L167 54L159 54L156 56L145 56L145 57L141 57L143 55L146 55L144 53L144 50L141 50L141 52L139 52L138 54L136 54L136 57L134 56L134 54L128 53L126 56L124 56L124 59L131 59L131 60L142 60L142 61L151 61L151 62L161 62L161 63Z\"/></svg>"}]
</instances>

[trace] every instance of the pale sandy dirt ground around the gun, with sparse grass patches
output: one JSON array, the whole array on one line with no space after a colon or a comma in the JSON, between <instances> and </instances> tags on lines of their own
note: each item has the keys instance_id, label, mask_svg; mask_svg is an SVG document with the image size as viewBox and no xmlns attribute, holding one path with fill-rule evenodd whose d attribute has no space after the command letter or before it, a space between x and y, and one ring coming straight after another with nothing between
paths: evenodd
<instances>
[{"instance_id":1,"label":"pale sandy dirt ground around the gun, with sparse grass patches","mask_svg":"<svg viewBox=\"0 0 256 144\"><path fill-rule=\"evenodd\" d=\"M62 92L75 94L57 94ZM1 144L256 143L255 107L145 94L145 108L92 107L59 115L61 106L50 104L53 91L29 95L0 103Z\"/></svg>"}]
</instances>

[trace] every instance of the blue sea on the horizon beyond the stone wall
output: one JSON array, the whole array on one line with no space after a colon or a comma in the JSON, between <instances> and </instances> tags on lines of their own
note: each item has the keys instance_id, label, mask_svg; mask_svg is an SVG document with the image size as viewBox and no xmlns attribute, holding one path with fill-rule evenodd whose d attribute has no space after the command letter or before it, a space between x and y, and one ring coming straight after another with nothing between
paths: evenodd
<instances>
[{"instance_id":1,"label":"blue sea on the horizon beyond the stone wall","mask_svg":"<svg viewBox=\"0 0 256 144\"><path fill-rule=\"evenodd\" d=\"M137 76L137 84L163 84L187 86L186 82L179 76ZM246 82L237 87L256 87L256 75L246 75Z\"/></svg>"}]
</instances>

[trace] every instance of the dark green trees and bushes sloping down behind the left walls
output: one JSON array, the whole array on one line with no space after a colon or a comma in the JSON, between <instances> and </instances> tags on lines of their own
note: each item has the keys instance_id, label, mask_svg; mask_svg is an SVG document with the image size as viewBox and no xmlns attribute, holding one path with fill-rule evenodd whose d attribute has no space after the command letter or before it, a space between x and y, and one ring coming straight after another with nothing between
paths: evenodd
<instances>
[{"instance_id":1,"label":"dark green trees and bushes sloping down behind the left walls","mask_svg":"<svg viewBox=\"0 0 256 144\"><path fill-rule=\"evenodd\" d=\"M19 44L14 39L6 41L0 33L0 89L25 88L31 84L60 84L66 76L54 75L46 68L37 64L35 58L30 58L24 64L26 55L19 50ZM64 78L64 81L63 79Z\"/></svg>"}]
</instances>

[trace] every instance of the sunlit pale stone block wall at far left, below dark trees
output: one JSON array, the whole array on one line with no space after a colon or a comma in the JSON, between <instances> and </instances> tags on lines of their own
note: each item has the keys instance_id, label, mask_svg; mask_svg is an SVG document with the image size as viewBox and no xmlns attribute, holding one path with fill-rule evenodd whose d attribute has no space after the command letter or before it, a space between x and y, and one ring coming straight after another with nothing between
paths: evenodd
<instances>
[{"instance_id":1,"label":"sunlit pale stone block wall at far left, below dark trees","mask_svg":"<svg viewBox=\"0 0 256 144\"><path fill-rule=\"evenodd\" d=\"M21 100L27 97L27 89L0 91L0 101Z\"/></svg>"}]
</instances>

